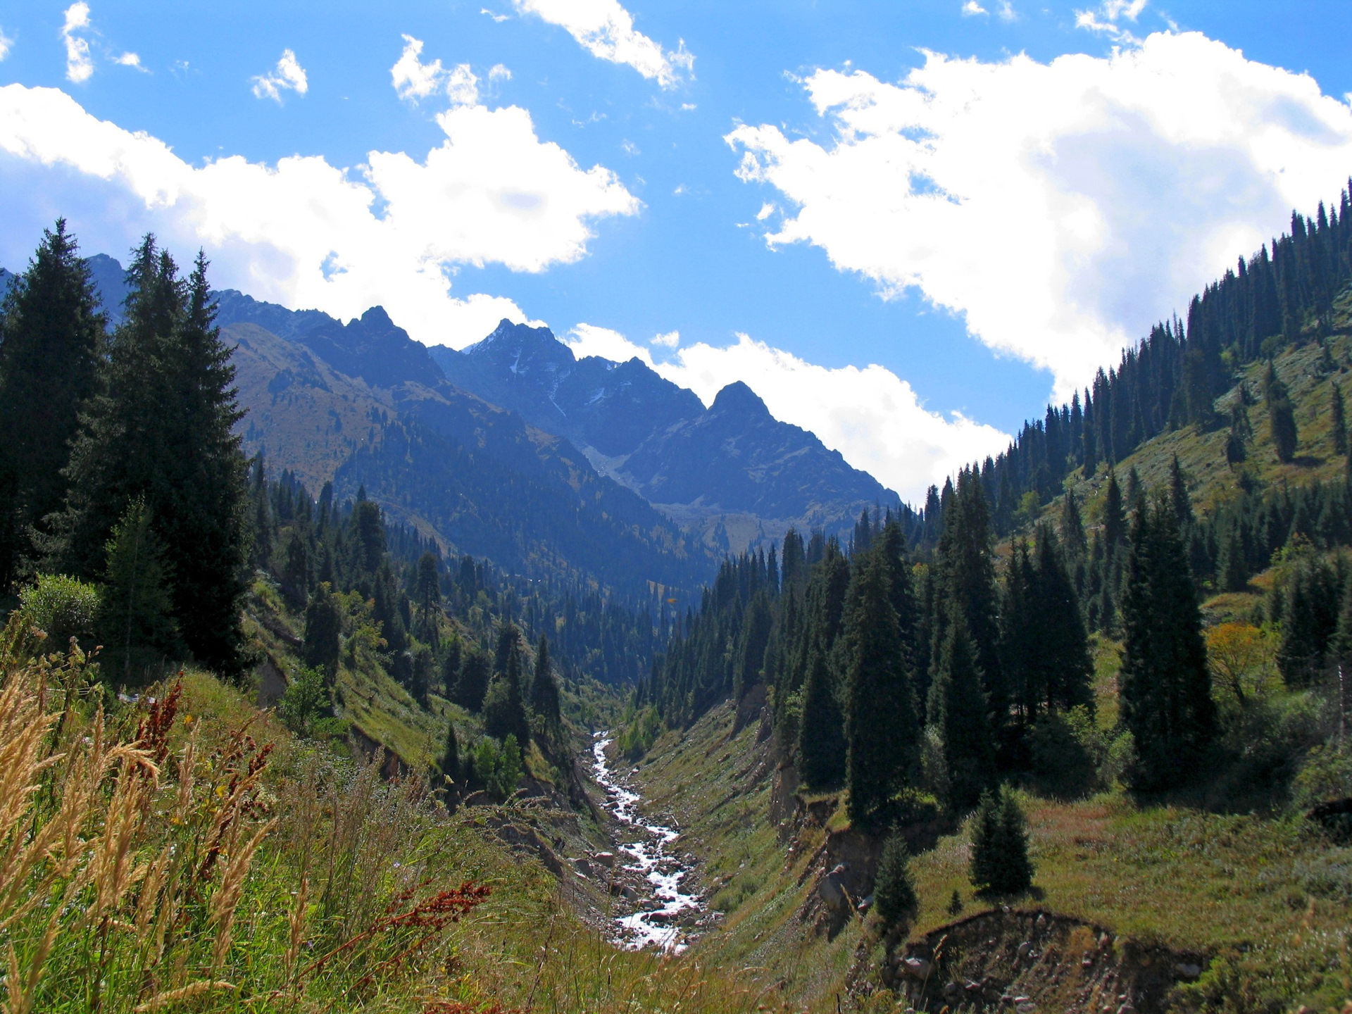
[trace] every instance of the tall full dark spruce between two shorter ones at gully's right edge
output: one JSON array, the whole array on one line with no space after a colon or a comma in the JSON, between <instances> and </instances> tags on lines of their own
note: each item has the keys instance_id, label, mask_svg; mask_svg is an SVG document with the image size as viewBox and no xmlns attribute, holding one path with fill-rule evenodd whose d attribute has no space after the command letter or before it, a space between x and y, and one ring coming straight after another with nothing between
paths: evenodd
<instances>
[{"instance_id":1,"label":"tall full dark spruce between two shorter ones at gully's right edge","mask_svg":"<svg viewBox=\"0 0 1352 1014\"><path fill-rule=\"evenodd\" d=\"M841 634L845 658L845 740L849 815L871 826L919 765L919 717L890 565L879 541L856 557Z\"/></svg>"}]
</instances>

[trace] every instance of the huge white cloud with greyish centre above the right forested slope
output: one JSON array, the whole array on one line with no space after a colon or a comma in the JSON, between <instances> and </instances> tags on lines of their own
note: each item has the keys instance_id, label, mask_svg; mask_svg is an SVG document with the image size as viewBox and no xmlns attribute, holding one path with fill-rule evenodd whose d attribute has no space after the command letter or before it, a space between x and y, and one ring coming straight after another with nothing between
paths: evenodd
<instances>
[{"instance_id":1,"label":"huge white cloud with greyish centre above the right forested slope","mask_svg":"<svg viewBox=\"0 0 1352 1014\"><path fill-rule=\"evenodd\" d=\"M792 201L771 245L910 288L1068 396L1236 257L1334 197L1352 108L1198 34L1107 58L926 54L899 84L804 81L833 143L740 126L738 174Z\"/></svg>"}]
</instances>

